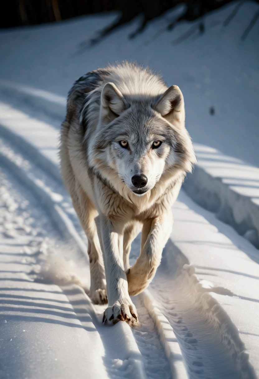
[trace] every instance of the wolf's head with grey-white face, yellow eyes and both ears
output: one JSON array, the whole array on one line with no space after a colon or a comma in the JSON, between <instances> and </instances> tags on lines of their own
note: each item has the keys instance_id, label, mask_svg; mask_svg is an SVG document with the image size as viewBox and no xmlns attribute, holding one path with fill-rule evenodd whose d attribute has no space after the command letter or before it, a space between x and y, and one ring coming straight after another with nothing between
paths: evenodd
<instances>
[{"instance_id":1,"label":"wolf's head with grey-white face, yellow eyes and both ears","mask_svg":"<svg viewBox=\"0 0 259 379\"><path fill-rule=\"evenodd\" d=\"M122 94L114 83L106 83L90 148L91 165L114 188L118 189L117 182L125 183L136 196L144 196L162 178L170 179L179 169L191 171L196 162L184 120L178 86L141 96Z\"/></svg>"}]
</instances>

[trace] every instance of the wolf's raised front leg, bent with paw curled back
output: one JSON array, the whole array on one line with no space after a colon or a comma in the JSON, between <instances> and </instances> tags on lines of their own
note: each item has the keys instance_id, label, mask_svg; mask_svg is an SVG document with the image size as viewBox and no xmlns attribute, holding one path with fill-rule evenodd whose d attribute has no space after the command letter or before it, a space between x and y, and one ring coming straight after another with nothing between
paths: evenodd
<instances>
[{"instance_id":1,"label":"wolf's raised front leg, bent with paw curled back","mask_svg":"<svg viewBox=\"0 0 259 379\"><path fill-rule=\"evenodd\" d=\"M127 274L130 296L142 292L153 279L172 226L172 211L144 222L140 255Z\"/></svg>"}]
</instances>

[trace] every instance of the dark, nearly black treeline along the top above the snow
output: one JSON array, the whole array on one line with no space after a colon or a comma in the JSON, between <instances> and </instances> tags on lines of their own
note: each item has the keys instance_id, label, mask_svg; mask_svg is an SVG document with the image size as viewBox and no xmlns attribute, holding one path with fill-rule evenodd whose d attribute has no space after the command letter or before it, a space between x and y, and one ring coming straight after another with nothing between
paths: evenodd
<instances>
[{"instance_id":1,"label":"dark, nearly black treeline along the top above the snow","mask_svg":"<svg viewBox=\"0 0 259 379\"><path fill-rule=\"evenodd\" d=\"M259 0L254 1L259 3ZM100 31L98 37L92 41L92 43L96 43L106 34L120 25L130 22L139 14L142 14L142 21L130 38L144 30L150 20L179 4L186 5L185 11L167 25L168 30L173 29L175 24L181 20L193 21L202 18L205 14L231 2L233 0L3 0L0 27L36 25L58 22L85 14L120 11L119 18L109 27ZM245 0L240 0L236 8L240 8L243 3ZM255 15L253 22L258 17L259 13ZM202 23L200 23L200 28L203 31Z\"/></svg>"}]
</instances>

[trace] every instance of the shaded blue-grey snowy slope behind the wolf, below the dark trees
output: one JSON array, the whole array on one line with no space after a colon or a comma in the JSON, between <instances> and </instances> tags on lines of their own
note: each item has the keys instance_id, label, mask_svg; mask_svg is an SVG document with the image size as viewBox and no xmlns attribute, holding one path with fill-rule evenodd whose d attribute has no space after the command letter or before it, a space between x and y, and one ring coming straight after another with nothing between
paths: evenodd
<instances>
[{"instance_id":1,"label":"shaded blue-grey snowy slope behind the wolf, below the dark trees","mask_svg":"<svg viewBox=\"0 0 259 379\"><path fill-rule=\"evenodd\" d=\"M245 41L240 41L240 37L259 5L245 2L224 27L222 24L234 6L232 3L206 16L203 35L195 33L175 46L171 42L192 24L183 23L172 32L153 37L165 26L165 19L173 19L172 12L154 20L133 40L127 35L139 20L79 55L75 55L78 45L108 25L115 14L2 30L0 77L66 96L74 80L108 62L132 59L150 64L161 71L169 85L181 88L186 102L187 128L194 142L257 166L259 22ZM215 108L214 116L209 114L211 106Z\"/></svg>"}]
</instances>

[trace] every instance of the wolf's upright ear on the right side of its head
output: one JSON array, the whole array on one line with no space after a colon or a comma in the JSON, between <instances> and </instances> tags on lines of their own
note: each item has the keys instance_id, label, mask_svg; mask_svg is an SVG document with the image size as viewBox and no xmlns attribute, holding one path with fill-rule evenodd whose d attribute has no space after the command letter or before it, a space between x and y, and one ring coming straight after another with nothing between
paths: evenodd
<instances>
[{"instance_id":1,"label":"wolf's upright ear on the right side of its head","mask_svg":"<svg viewBox=\"0 0 259 379\"><path fill-rule=\"evenodd\" d=\"M153 108L173 125L184 126L184 99L178 86L169 87Z\"/></svg>"}]
</instances>

